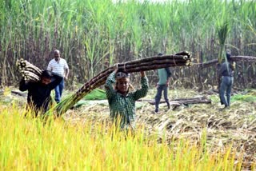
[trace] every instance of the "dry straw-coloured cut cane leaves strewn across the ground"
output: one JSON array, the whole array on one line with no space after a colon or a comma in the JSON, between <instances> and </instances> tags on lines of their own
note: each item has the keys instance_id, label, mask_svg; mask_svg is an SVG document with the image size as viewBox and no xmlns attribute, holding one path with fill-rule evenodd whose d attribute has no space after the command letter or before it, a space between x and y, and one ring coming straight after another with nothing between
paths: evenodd
<instances>
[{"instance_id":1,"label":"dry straw-coloured cut cane leaves strewn across the ground","mask_svg":"<svg viewBox=\"0 0 256 171\"><path fill-rule=\"evenodd\" d=\"M147 135L157 133L159 141L162 141L162 134L166 133L167 142L191 138L198 143L205 130L206 144L212 151L224 149L232 144L232 149L245 152L244 161L247 166L256 164L256 98L254 98L256 90L234 93L231 97L231 107L226 110L221 110L218 93L208 94L190 89L171 89L170 101L206 96L212 103L181 105L175 110L167 110L166 104L163 103L160 105L161 112L154 114L154 105L143 101L143 99L154 99L155 90L150 89L150 93L136 103L137 128L146 129ZM95 101L81 108L68 110L64 116L66 121L74 124L91 121L94 125L110 121L107 101L106 103Z\"/></svg>"}]
</instances>

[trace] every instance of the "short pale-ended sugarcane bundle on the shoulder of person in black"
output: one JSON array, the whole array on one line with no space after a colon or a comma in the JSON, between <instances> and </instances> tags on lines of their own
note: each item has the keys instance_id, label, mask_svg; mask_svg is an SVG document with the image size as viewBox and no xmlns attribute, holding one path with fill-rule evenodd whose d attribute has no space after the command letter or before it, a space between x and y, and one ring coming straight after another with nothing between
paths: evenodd
<instances>
[{"instance_id":1,"label":"short pale-ended sugarcane bundle on the shoulder of person in black","mask_svg":"<svg viewBox=\"0 0 256 171\"><path fill-rule=\"evenodd\" d=\"M25 81L38 82L40 80L42 70L30 62L21 58L17 62L17 67Z\"/></svg>"}]
</instances>

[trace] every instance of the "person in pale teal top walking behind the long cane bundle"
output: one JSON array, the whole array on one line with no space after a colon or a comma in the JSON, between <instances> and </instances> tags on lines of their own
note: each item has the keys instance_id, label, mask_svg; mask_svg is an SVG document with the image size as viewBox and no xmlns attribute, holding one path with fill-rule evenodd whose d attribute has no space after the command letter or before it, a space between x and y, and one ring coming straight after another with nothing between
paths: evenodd
<instances>
[{"instance_id":1,"label":"person in pale teal top walking behind the long cane bundle","mask_svg":"<svg viewBox=\"0 0 256 171\"><path fill-rule=\"evenodd\" d=\"M162 53L159 53L158 56L162 56ZM155 109L154 109L154 113L158 113L159 112L159 103L162 97L162 91L163 91L163 95L165 97L165 101L167 104L168 109L170 109L170 102L168 99L168 86L169 86L169 82L170 82L170 76L171 76L171 72L170 72L170 68L162 68L162 69L158 69L158 85L157 85L157 94L154 97L155 100Z\"/></svg>"}]
</instances>

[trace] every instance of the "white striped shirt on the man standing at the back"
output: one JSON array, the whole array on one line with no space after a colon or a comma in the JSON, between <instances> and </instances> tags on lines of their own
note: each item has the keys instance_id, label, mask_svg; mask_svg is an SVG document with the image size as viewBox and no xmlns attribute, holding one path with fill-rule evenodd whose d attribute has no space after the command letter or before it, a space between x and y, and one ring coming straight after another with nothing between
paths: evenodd
<instances>
[{"instance_id":1,"label":"white striped shirt on the man standing at the back","mask_svg":"<svg viewBox=\"0 0 256 171\"><path fill-rule=\"evenodd\" d=\"M50 60L47 70L50 70L54 73L64 76L65 70L69 69L69 66L66 63L66 60L63 58L60 58L58 62L55 61L55 59Z\"/></svg>"}]
</instances>

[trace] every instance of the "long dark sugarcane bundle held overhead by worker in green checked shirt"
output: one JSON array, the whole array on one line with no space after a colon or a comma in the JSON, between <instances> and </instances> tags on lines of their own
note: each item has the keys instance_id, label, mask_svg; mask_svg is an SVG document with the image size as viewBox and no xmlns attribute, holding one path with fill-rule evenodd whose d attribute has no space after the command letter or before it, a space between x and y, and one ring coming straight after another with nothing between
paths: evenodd
<instances>
[{"instance_id":1,"label":"long dark sugarcane bundle held overhead by worker in green checked shirt","mask_svg":"<svg viewBox=\"0 0 256 171\"><path fill-rule=\"evenodd\" d=\"M150 58L143 58L140 60L135 60L131 62L125 62L118 64L118 72L128 72L134 73L146 70L156 70L160 68L166 68L171 66L190 66L191 58L190 54L186 51L180 52L174 55L162 55L154 56ZM70 97L66 97L63 101L50 109L46 114L57 112L57 115L65 113L66 110L70 109L74 104L76 104L82 97L90 93L91 90L97 88L100 85L105 84L106 78L114 71L114 66L103 70L101 73L96 75L94 78L86 82L77 92L72 94Z\"/></svg>"}]
</instances>

